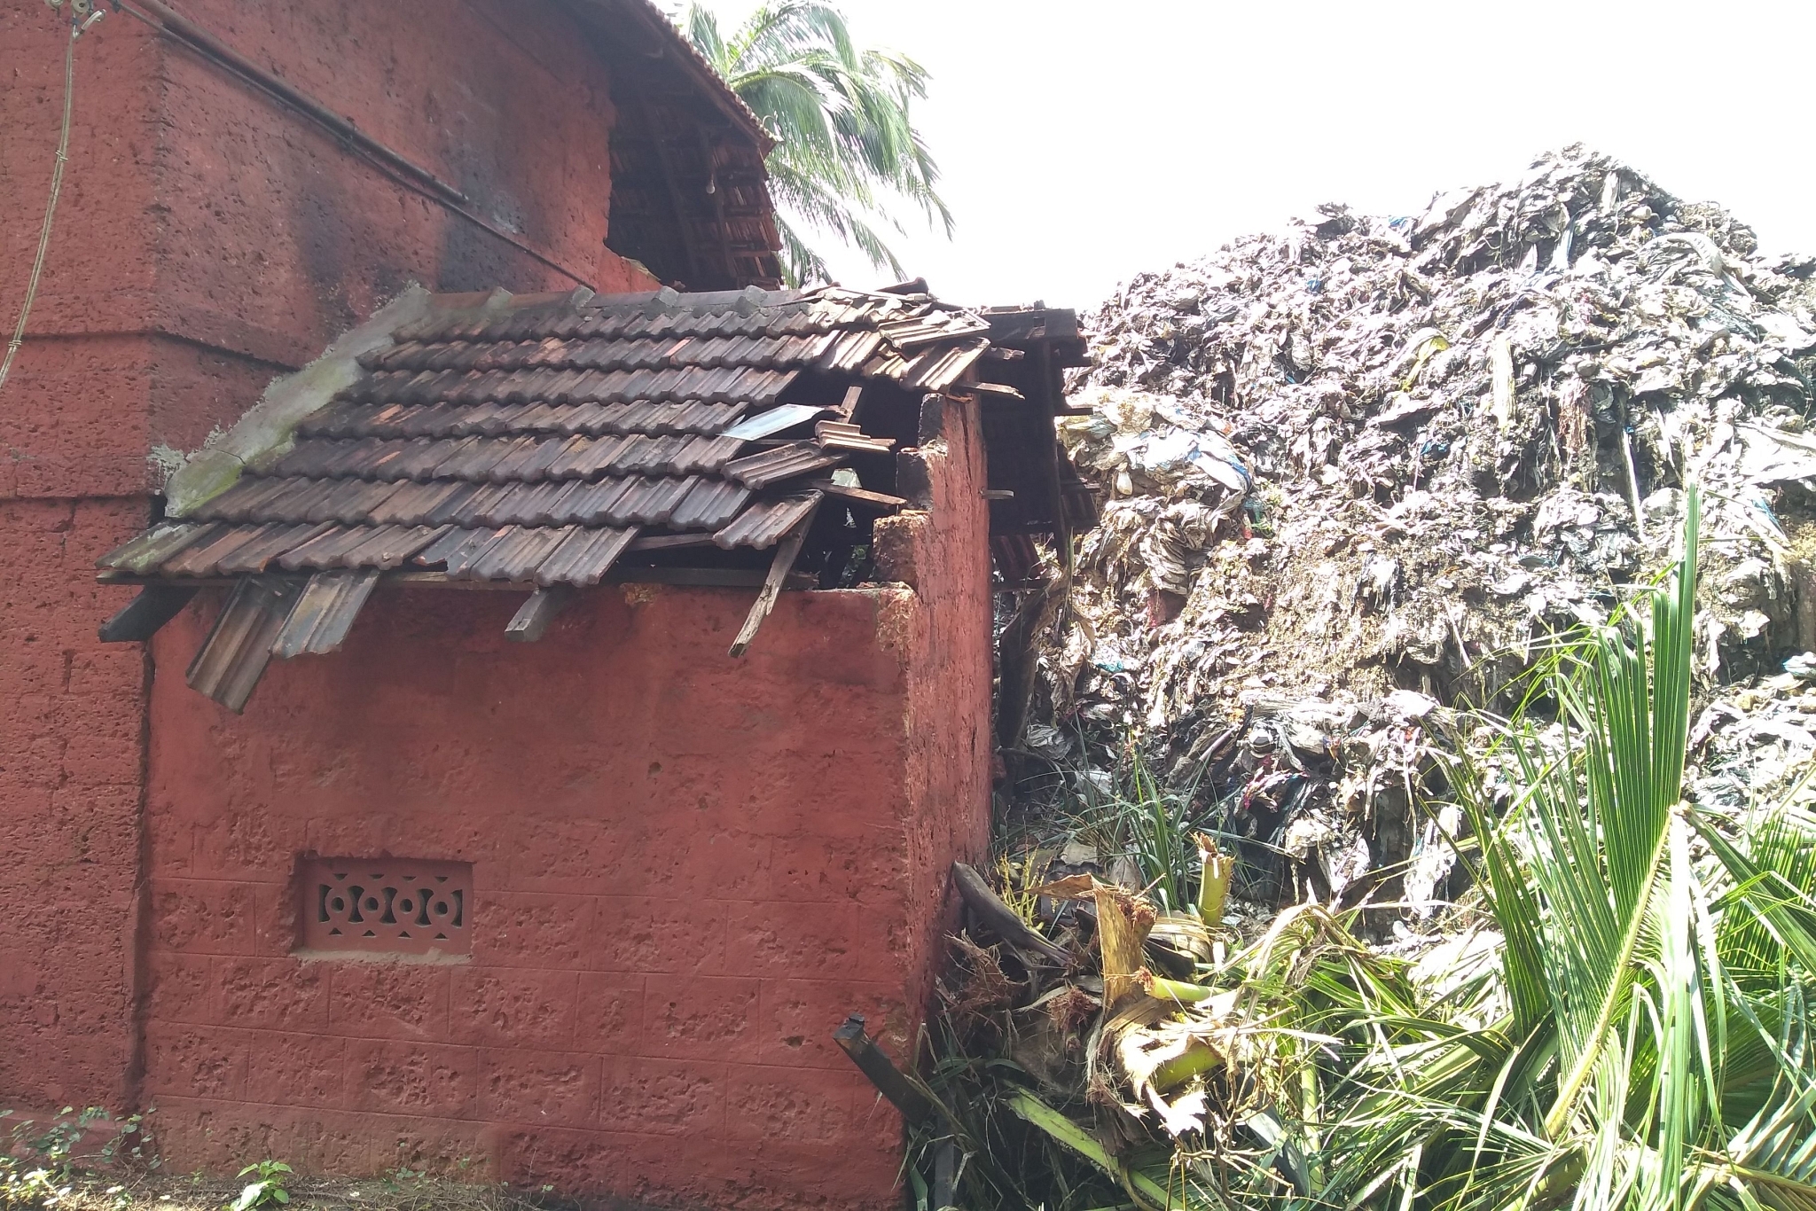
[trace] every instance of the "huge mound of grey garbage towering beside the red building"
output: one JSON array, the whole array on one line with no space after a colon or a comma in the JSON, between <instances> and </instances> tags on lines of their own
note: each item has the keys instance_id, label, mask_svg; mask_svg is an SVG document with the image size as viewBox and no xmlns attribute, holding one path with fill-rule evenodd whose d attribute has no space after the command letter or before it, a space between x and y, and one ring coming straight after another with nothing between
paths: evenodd
<instances>
[{"instance_id":1,"label":"huge mound of grey garbage towering beside the red building","mask_svg":"<svg viewBox=\"0 0 1816 1211\"><path fill-rule=\"evenodd\" d=\"M1451 706L1673 557L1703 494L1698 663L1816 646L1816 258L1582 147L1424 214L1342 205L1140 274L1062 419L1104 490L1021 748L1091 793L1131 744L1295 899L1411 862ZM1714 724L1711 724L1714 726Z\"/></svg>"}]
</instances>

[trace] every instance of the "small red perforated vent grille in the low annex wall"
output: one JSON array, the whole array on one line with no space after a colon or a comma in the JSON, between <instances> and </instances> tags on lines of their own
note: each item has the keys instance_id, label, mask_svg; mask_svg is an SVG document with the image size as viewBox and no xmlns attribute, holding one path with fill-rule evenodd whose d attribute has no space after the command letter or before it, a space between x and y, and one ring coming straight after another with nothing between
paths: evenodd
<instances>
[{"instance_id":1,"label":"small red perforated vent grille in the low annex wall","mask_svg":"<svg viewBox=\"0 0 1816 1211\"><path fill-rule=\"evenodd\" d=\"M301 944L385 955L472 950L472 866L416 859L307 859Z\"/></svg>"}]
</instances>

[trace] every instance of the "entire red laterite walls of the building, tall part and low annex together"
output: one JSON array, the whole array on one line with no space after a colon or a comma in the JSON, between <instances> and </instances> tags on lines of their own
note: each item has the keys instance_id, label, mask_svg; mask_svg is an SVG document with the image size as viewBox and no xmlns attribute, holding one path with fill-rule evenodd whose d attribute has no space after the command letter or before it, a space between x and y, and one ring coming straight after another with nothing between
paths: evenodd
<instances>
[{"instance_id":1,"label":"entire red laterite walls of the building, tall part and low annex together","mask_svg":"<svg viewBox=\"0 0 1816 1211\"><path fill-rule=\"evenodd\" d=\"M601 290L605 69L554 4L178 0ZM64 27L0 5L0 316L36 241ZM94 628L93 559L189 450L407 281L570 280L109 15L76 45L56 236L0 390L0 1106L158 1106L173 1166L283 1157L656 1200L883 1206L899 1124L830 1049L897 1055L944 868L988 826L975 418L930 450L919 586L599 590L534 645L510 594L383 592L243 717L182 683L218 601ZM207 597L207 596L205 596ZM458 962L300 959L309 855L472 864Z\"/></svg>"}]
</instances>

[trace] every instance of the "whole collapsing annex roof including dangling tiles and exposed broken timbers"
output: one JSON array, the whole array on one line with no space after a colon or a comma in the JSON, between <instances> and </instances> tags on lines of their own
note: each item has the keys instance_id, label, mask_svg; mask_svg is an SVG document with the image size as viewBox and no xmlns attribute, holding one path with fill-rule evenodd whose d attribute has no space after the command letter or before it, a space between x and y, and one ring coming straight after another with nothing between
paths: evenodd
<instances>
[{"instance_id":1,"label":"whole collapsing annex roof including dangling tiles and exposed broken timbers","mask_svg":"<svg viewBox=\"0 0 1816 1211\"><path fill-rule=\"evenodd\" d=\"M992 323L919 289L407 294L274 383L173 478L171 516L100 559L147 586L104 637L234 585L191 684L238 710L272 654L340 646L380 579L538 590L518 637L607 579L855 583L870 521L924 505L895 456L924 399L1031 409L1055 459L1057 389L975 381L986 354L999 376L1028 359Z\"/></svg>"}]
</instances>

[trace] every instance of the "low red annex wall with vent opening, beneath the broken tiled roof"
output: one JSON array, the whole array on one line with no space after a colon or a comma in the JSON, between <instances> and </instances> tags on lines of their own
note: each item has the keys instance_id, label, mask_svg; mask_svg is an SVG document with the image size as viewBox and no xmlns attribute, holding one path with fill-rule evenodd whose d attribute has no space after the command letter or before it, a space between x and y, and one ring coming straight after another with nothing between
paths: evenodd
<instances>
[{"instance_id":1,"label":"low red annex wall with vent opening, beneath the broken tiled roof","mask_svg":"<svg viewBox=\"0 0 1816 1211\"><path fill-rule=\"evenodd\" d=\"M895 523L906 586L387 592L243 717L153 686L145 1091L180 1166L449 1167L714 1207L884 1207L946 868L988 832L975 416ZM180 668L214 605L160 634ZM300 959L303 855L472 862L467 960Z\"/></svg>"}]
</instances>

